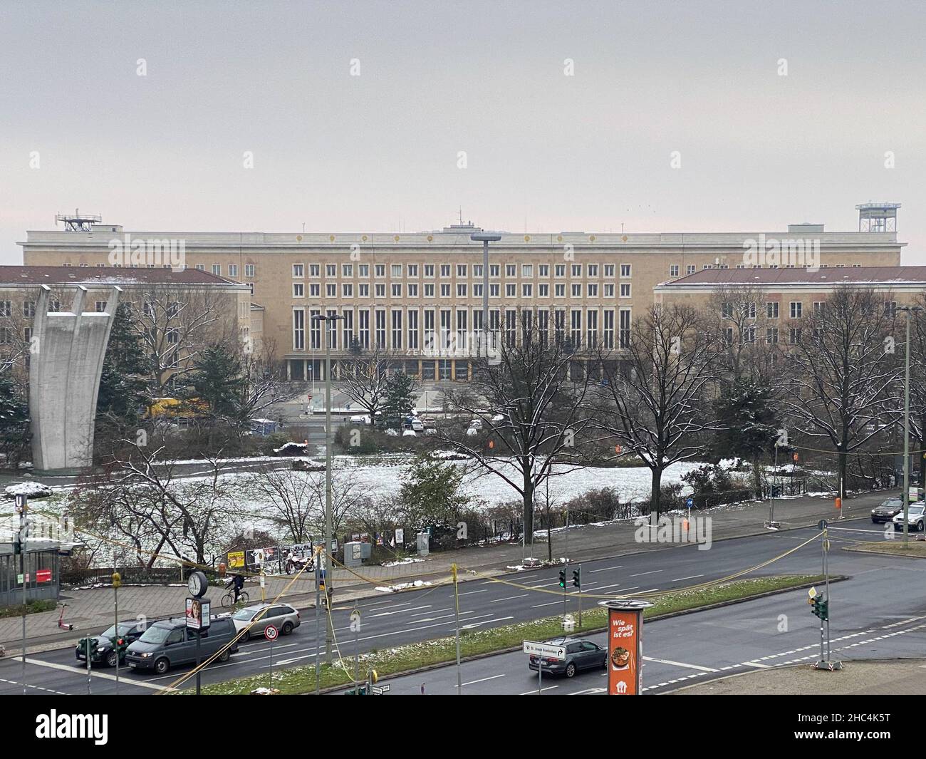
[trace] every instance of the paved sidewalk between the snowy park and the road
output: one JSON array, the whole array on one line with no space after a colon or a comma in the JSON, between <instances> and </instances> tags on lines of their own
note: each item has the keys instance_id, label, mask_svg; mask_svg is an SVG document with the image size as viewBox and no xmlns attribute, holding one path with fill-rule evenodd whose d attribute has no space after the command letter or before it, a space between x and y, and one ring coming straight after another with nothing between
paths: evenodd
<instances>
[{"instance_id":1,"label":"paved sidewalk between the snowy park and the road","mask_svg":"<svg viewBox=\"0 0 926 759\"><path fill-rule=\"evenodd\" d=\"M844 520L868 517L871 507L881 503L888 495L888 491L880 490L846 499L842 509ZM704 512L696 512L696 515L711 516L711 539L714 541L768 532L763 526L769 518L768 502L719 506ZM777 500L775 503L775 519L781 522L782 529L817 525L820 519L832 521L838 517L839 512L833 508L830 499L800 498ZM569 529L568 536L566 530L554 530L553 557L557 559L566 554L567 541L571 562L668 548L663 543L637 543L634 540L635 529L632 521L625 521L599 526L572 527ZM527 555L531 555L530 546L527 548ZM546 543L535 542L533 556L545 560L546 555ZM335 588L334 603L339 605L345 601L384 596L386 593L376 590L377 587L413 582L417 579L433 583L444 581L450 575L452 563L457 563L461 570L474 570L481 575L495 576L510 571L507 567L518 565L521 561L520 544L506 544L490 548L441 551L432 553L420 563L406 563L393 567L362 566L355 570L357 576L339 569L334 571L332 578L332 586ZM475 578L475 575L466 571L460 573L461 581ZM292 577L268 577L265 588L266 597L275 598L292 580ZM123 586L119 588L119 619L134 619L141 615L156 619L169 614L182 614L187 589L185 582L182 585L180 583L178 571L175 586ZM260 588L257 582L248 582L245 589L250 595L251 602L260 601ZM218 606L223 592L215 588L208 593L215 611L223 611ZM286 590L281 600L292 603L299 609L314 608L314 578L305 576L292 581L291 587ZM88 633L102 632L114 622L112 588L63 589L61 601L68 604L65 622L75 625L76 629L73 631L59 629L57 610L42 614L29 614L26 617L27 651L65 647ZM0 619L0 643L6 647L7 655L15 655L20 650L21 631L22 617Z\"/></svg>"}]
</instances>

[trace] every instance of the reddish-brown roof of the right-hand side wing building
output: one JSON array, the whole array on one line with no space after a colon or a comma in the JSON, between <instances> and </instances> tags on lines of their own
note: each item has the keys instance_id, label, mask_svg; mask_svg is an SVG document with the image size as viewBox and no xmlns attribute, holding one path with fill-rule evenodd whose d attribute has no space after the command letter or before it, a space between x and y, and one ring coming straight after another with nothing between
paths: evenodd
<instances>
[{"instance_id":1,"label":"reddish-brown roof of the right-hand side wing building","mask_svg":"<svg viewBox=\"0 0 926 759\"><path fill-rule=\"evenodd\" d=\"M657 285L657 291L710 289L720 285L775 287L787 285L926 285L926 266L829 267L795 269L703 269Z\"/></svg>"}]
</instances>

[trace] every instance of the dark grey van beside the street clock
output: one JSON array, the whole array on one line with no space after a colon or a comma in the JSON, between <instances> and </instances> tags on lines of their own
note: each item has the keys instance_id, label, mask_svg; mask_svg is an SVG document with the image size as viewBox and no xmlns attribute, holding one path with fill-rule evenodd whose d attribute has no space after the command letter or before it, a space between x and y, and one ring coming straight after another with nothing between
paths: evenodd
<instances>
[{"instance_id":1,"label":"dark grey van beside the street clock","mask_svg":"<svg viewBox=\"0 0 926 759\"><path fill-rule=\"evenodd\" d=\"M235 640L231 617L213 616L209 626L199 632L202 635L201 661L206 661L223 648L219 662L227 662L232 653L237 653L238 641ZM172 666L193 664L196 661L196 631L188 630L182 617L159 620L149 625L142 637L129 646L125 661L134 669L153 669L158 675L163 675Z\"/></svg>"}]
</instances>

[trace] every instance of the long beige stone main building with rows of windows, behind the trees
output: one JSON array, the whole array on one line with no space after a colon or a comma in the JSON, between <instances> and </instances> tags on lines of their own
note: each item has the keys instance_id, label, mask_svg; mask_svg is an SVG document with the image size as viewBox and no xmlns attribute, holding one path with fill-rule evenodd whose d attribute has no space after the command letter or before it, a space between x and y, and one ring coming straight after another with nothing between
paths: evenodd
<instances>
[{"instance_id":1,"label":"long beige stone main building with rows of windows, behind the trees","mask_svg":"<svg viewBox=\"0 0 926 759\"><path fill-rule=\"evenodd\" d=\"M618 346L634 313L653 304L657 285L694 272L899 265L904 244L893 223L865 228L502 233L490 244L490 326L513 330L530 318L582 342ZM482 331L482 244L470 239L477 231L460 224L417 234L125 233L94 224L90 231L31 231L21 245L27 264L93 267L111 262L123 240L180 241L181 265L248 286L263 308L264 339L293 379L323 376L321 325L311 317L334 313L345 317L332 338L335 373L339 361L351 360L356 341L355 349L390 351L407 372L429 381L469 376L469 347ZM779 242L782 255L768 255ZM137 259L125 265L165 264Z\"/></svg>"}]
</instances>

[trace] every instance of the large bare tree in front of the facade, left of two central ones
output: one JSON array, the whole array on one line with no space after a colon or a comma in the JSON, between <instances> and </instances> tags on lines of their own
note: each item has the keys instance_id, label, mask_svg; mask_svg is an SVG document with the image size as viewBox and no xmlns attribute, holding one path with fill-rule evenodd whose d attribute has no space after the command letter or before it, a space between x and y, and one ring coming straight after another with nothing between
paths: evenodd
<instances>
[{"instance_id":1,"label":"large bare tree in front of the facade, left of two central ones","mask_svg":"<svg viewBox=\"0 0 926 759\"><path fill-rule=\"evenodd\" d=\"M589 462L582 443L597 361L594 351L527 323L523 314L517 335L497 336L494 355L472 359L469 385L445 391L448 410L479 420L482 435L443 439L469 454L479 474L497 476L518 493L530 542L537 488ZM493 448L483 447L486 438Z\"/></svg>"}]
</instances>

